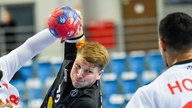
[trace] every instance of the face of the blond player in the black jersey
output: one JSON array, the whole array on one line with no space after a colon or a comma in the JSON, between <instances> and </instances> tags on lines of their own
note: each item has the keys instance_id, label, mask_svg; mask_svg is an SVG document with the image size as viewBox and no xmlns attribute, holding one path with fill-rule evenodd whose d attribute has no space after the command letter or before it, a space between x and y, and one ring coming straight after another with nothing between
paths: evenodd
<instances>
[{"instance_id":1,"label":"face of the blond player in the black jersey","mask_svg":"<svg viewBox=\"0 0 192 108\"><path fill-rule=\"evenodd\" d=\"M77 55L70 77L75 88L91 87L100 79L102 72L97 67L91 67L81 55Z\"/></svg>"}]
</instances>

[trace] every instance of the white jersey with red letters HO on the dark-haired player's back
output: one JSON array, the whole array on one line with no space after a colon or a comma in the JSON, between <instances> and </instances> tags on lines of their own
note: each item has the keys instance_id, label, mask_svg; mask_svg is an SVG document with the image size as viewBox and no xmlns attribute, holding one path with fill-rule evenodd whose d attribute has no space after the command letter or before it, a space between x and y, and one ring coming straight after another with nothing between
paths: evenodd
<instances>
[{"instance_id":1,"label":"white jersey with red letters HO on the dark-haired player's back","mask_svg":"<svg viewBox=\"0 0 192 108\"><path fill-rule=\"evenodd\" d=\"M192 108L192 60L171 66L139 88L126 108Z\"/></svg>"}]
</instances>

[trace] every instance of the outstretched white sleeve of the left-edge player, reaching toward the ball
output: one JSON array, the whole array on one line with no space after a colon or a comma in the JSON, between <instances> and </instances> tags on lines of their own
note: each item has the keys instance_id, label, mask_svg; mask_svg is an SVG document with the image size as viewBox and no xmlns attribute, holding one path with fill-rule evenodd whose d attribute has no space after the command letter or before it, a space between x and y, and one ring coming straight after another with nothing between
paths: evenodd
<instances>
[{"instance_id":1,"label":"outstretched white sleeve of the left-edge player, reaching toward the ball","mask_svg":"<svg viewBox=\"0 0 192 108\"><path fill-rule=\"evenodd\" d=\"M8 81L13 75L30 59L40 51L50 46L56 41L48 29L42 30L36 35L27 39L21 46L0 58L0 68L3 78Z\"/></svg>"}]
</instances>

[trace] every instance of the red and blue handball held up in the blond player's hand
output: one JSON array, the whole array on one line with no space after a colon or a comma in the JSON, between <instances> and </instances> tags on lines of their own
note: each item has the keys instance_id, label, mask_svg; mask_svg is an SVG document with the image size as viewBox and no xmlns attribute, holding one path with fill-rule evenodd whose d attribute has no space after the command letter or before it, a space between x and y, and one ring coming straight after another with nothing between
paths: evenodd
<instances>
[{"instance_id":1,"label":"red and blue handball held up in the blond player's hand","mask_svg":"<svg viewBox=\"0 0 192 108\"><path fill-rule=\"evenodd\" d=\"M62 40L72 38L79 30L80 18L69 6L55 8L48 18L48 28L53 36Z\"/></svg>"}]
</instances>

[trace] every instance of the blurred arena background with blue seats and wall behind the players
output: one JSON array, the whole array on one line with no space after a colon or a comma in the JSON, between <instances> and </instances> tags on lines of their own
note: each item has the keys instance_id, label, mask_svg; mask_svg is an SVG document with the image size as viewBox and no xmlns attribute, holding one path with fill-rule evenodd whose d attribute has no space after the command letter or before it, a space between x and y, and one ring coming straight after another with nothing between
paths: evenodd
<instances>
[{"instance_id":1,"label":"blurred arena background with blue seats and wall behind the players","mask_svg":"<svg viewBox=\"0 0 192 108\"><path fill-rule=\"evenodd\" d=\"M158 50L158 23L171 12L192 15L192 0L1 0L0 55L47 27L50 12L68 5L82 12L88 41L107 47L111 61L101 79L103 108L124 108L138 87L166 69ZM11 81L19 108L39 108L63 60L57 41L23 66Z\"/></svg>"}]
</instances>

